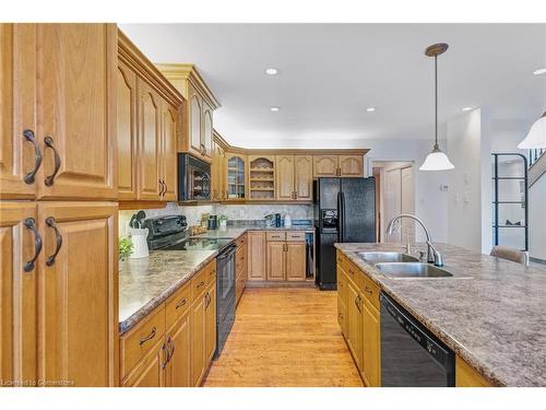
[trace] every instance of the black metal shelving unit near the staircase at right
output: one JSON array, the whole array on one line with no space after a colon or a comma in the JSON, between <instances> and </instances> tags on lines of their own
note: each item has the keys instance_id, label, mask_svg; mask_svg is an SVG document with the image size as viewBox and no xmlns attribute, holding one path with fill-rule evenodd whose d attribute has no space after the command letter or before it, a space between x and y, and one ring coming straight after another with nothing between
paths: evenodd
<instances>
[{"instance_id":1,"label":"black metal shelving unit near the staircase at right","mask_svg":"<svg viewBox=\"0 0 546 410\"><path fill-rule=\"evenodd\" d=\"M529 250L529 185L527 185L527 159L525 155L520 153L494 153L491 154L494 157L494 172L492 172L492 181L494 181L494 222L492 222L492 243L494 245L502 245L499 244L499 229L523 229L524 230L524 243L525 248L521 250ZM499 156L515 156L522 160L522 176L499 176ZM499 180L521 180L524 183L523 190L523 200L522 201L501 201L499 200ZM499 224L499 207L503 204L521 204L524 209L524 224L518 225L501 225Z\"/></svg>"}]
</instances>

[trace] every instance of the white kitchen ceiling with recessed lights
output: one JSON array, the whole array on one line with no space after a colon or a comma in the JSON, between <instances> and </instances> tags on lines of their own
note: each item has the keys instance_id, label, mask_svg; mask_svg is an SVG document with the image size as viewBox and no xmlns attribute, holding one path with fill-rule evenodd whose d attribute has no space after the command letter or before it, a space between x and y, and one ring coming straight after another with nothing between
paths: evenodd
<instances>
[{"instance_id":1,"label":"white kitchen ceiling with recessed lights","mask_svg":"<svg viewBox=\"0 0 546 410\"><path fill-rule=\"evenodd\" d=\"M546 24L120 24L155 62L193 62L222 107L215 128L245 147L364 147L432 138L439 117L490 106L497 118L546 109ZM266 68L280 70L276 77ZM280 106L272 113L271 106ZM375 113L366 108L375 106ZM356 141L355 141L356 140Z\"/></svg>"}]
</instances>

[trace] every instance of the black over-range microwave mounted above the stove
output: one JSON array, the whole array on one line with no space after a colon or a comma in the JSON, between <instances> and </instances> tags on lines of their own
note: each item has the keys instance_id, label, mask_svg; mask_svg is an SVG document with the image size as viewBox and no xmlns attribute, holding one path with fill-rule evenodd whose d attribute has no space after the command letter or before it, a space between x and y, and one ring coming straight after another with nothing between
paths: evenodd
<instances>
[{"instance_id":1,"label":"black over-range microwave mounted above the stove","mask_svg":"<svg viewBox=\"0 0 546 410\"><path fill-rule=\"evenodd\" d=\"M178 154L178 200L211 199L211 165L190 154Z\"/></svg>"}]
</instances>

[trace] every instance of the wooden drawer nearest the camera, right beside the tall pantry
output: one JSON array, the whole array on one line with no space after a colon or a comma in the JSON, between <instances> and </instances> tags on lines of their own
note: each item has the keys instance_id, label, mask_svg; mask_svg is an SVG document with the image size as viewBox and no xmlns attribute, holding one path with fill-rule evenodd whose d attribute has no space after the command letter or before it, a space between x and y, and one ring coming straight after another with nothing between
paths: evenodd
<instances>
[{"instance_id":1,"label":"wooden drawer nearest the camera, right beside the tall pantry","mask_svg":"<svg viewBox=\"0 0 546 410\"><path fill-rule=\"evenodd\" d=\"M121 377L157 345L165 335L165 305L161 305L144 320L138 324L129 335L121 338Z\"/></svg>"}]
</instances>

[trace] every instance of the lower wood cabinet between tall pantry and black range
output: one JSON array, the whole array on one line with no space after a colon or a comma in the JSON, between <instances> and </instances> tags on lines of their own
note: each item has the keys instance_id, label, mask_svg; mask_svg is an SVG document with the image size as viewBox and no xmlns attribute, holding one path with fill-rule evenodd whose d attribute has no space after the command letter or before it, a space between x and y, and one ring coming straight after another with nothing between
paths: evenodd
<instances>
[{"instance_id":1,"label":"lower wood cabinet between tall pantry and black range","mask_svg":"<svg viewBox=\"0 0 546 410\"><path fill-rule=\"evenodd\" d=\"M121 337L122 386L200 386L216 351L216 261Z\"/></svg>"}]
</instances>

